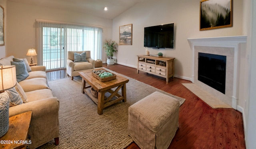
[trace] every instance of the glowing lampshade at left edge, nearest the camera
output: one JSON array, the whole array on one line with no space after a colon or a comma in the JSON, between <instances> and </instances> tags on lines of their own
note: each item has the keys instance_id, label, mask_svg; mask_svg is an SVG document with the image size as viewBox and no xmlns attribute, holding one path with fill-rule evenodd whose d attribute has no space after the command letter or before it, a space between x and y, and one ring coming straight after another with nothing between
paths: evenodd
<instances>
[{"instance_id":1,"label":"glowing lampshade at left edge, nearest the camera","mask_svg":"<svg viewBox=\"0 0 256 149\"><path fill-rule=\"evenodd\" d=\"M0 66L0 93L17 83L15 66Z\"/></svg>"}]
</instances>

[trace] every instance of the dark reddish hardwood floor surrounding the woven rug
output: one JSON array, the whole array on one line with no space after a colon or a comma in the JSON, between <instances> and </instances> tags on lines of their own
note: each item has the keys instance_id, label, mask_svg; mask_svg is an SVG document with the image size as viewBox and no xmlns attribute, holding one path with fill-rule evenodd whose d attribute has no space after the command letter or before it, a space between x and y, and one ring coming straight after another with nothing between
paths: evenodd
<instances>
[{"instance_id":1,"label":"dark reddish hardwood floor surrounding the woven rug","mask_svg":"<svg viewBox=\"0 0 256 149\"><path fill-rule=\"evenodd\" d=\"M103 64L103 67L186 99L180 107L179 129L168 149L246 148L242 114L235 109L212 109L182 85L182 83L191 83L190 81L174 77L167 83L162 77L145 72L138 74L135 68L118 64ZM64 72L65 70L62 70L62 73L55 72L56 74L48 72L48 80L62 78L63 76L55 75L62 75ZM139 149L139 147L133 142L126 149Z\"/></svg>"}]
</instances>

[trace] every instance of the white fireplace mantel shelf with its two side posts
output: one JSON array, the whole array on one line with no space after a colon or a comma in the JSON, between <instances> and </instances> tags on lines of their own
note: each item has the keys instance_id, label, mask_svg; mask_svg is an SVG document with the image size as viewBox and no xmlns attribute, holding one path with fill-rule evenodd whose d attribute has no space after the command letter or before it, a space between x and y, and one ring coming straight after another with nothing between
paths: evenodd
<instances>
[{"instance_id":1,"label":"white fireplace mantel shelf with its two side posts","mask_svg":"<svg viewBox=\"0 0 256 149\"><path fill-rule=\"evenodd\" d=\"M192 68L195 62L195 46L205 47L223 47L234 48L234 78L232 92L232 107L237 109L237 93L238 93L238 54L239 44L246 43L247 36L227 36L227 37L212 37L212 38L188 38L190 48L192 50ZM194 83L194 69L192 69L192 82Z\"/></svg>"}]
</instances>

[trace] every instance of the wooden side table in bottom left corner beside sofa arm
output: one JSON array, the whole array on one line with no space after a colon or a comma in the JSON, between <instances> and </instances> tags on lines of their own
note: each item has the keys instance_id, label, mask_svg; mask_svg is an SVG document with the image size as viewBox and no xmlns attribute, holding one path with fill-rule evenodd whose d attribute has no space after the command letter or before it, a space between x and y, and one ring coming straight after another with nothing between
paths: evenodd
<instances>
[{"instance_id":1,"label":"wooden side table in bottom left corner beside sofa arm","mask_svg":"<svg viewBox=\"0 0 256 149\"><path fill-rule=\"evenodd\" d=\"M0 138L1 149L25 149L26 144L32 143L27 140L31 115L32 111L28 111L9 117L9 129Z\"/></svg>"}]
</instances>

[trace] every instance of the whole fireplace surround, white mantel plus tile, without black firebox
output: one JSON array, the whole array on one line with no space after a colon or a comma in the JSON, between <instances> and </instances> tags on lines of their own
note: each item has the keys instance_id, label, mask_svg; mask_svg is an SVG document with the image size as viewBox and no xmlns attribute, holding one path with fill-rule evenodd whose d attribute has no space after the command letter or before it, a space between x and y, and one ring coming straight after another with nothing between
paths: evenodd
<instances>
[{"instance_id":1,"label":"whole fireplace surround, white mantel plus tile, without black firebox","mask_svg":"<svg viewBox=\"0 0 256 149\"><path fill-rule=\"evenodd\" d=\"M189 38L192 49L192 82L216 98L237 109L238 70L240 44L246 43L246 36L229 36L215 38ZM198 52L226 56L225 94L198 81Z\"/></svg>"}]
</instances>

